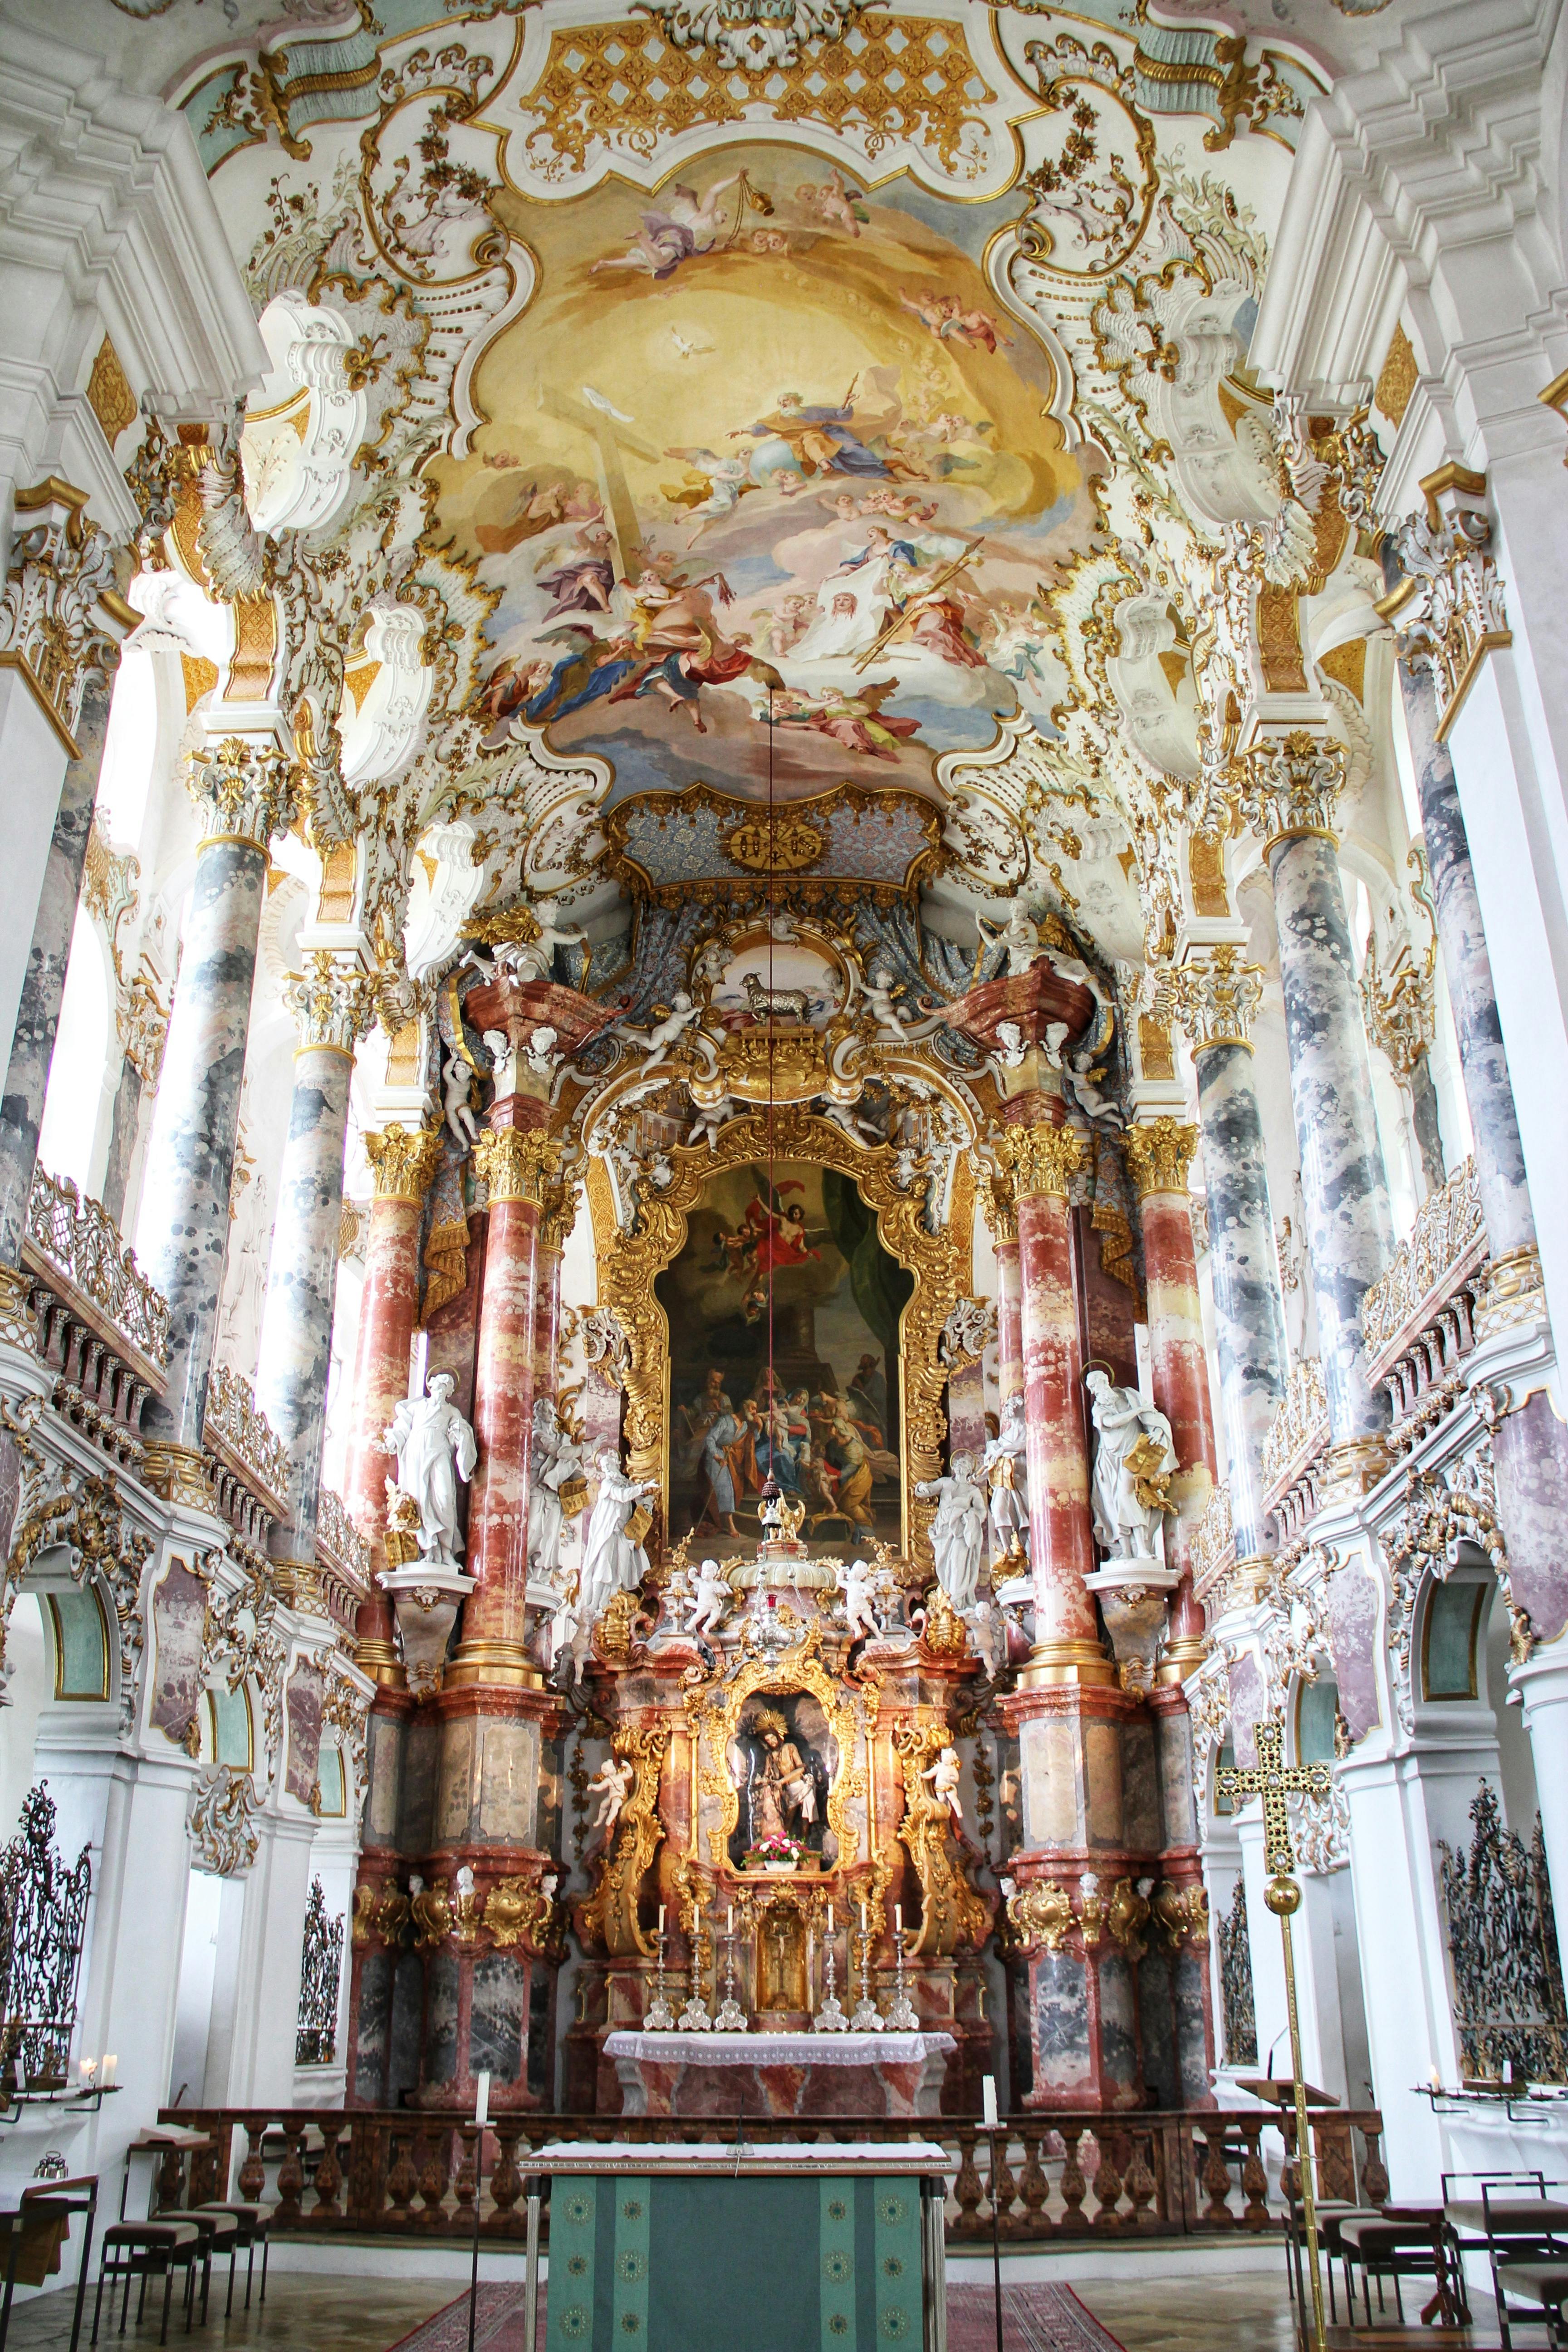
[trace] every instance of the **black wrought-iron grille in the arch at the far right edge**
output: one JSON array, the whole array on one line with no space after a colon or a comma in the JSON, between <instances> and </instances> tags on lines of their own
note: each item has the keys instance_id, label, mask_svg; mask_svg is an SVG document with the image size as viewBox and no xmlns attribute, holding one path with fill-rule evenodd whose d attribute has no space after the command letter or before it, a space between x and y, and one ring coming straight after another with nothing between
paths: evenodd
<instances>
[{"instance_id":1,"label":"black wrought-iron grille in the arch at the far right edge","mask_svg":"<svg viewBox=\"0 0 1568 2352\"><path fill-rule=\"evenodd\" d=\"M1497 2082L1507 2058L1523 2082L1563 2082L1568 2013L1540 1813L1526 1846L1483 1780L1469 1820L1469 1856L1436 1849L1465 2074Z\"/></svg>"}]
</instances>

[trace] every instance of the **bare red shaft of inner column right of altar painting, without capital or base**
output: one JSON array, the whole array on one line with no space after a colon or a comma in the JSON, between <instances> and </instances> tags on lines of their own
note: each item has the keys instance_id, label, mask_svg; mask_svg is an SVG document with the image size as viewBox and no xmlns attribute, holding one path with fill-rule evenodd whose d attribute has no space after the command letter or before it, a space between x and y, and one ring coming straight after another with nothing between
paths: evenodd
<instances>
[{"instance_id":1,"label":"bare red shaft of inner column right of altar painting, without capital or base","mask_svg":"<svg viewBox=\"0 0 1568 2352\"><path fill-rule=\"evenodd\" d=\"M1018 1202L1020 1338L1030 1463L1034 1646L1093 1642L1084 1359L1072 1291L1072 1209L1056 1192Z\"/></svg>"}]
</instances>

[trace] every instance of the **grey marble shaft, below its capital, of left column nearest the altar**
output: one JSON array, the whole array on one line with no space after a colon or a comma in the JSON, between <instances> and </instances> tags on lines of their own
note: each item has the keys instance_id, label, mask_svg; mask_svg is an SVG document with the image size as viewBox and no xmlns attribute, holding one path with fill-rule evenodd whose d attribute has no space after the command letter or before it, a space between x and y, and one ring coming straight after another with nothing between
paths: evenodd
<instances>
[{"instance_id":1,"label":"grey marble shaft, below its capital, of left column nearest the altar","mask_svg":"<svg viewBox=\"0 0 1568 2352\"><path fill-rule=\"evenodd\" d=\"M280 1559L310 1559L315 1545L350 1077L343 1047L308 1044L294 1056L256 1362L256 1404L289 1449L289 1517L273 1529Z\"/></svg>"}]
</instances>

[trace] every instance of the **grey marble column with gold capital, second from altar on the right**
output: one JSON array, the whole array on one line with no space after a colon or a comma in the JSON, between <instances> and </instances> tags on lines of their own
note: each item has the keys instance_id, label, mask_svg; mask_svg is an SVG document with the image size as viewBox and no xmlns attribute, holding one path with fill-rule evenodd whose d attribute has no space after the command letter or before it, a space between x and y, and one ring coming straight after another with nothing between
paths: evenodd
<instances>
[{"instance_id":1,"label":"grey marble column with gold capital, second from altar on the right","mask_svg":"<svg viewBox=\"0 0 1568 2352\"><path fill-rule=\"evenodd\" d=\"M1239 807L1274 882L1328 1432L1335 1449L1361 1449L1375 1472L1387 1458L1378 1437L1389 1399L1366 1374L1361 1298L1394 1256L1394 1211L1333 830L1345 750L1295 729L1255 743L1237 769Z\"/></svg>"}]
</instances>

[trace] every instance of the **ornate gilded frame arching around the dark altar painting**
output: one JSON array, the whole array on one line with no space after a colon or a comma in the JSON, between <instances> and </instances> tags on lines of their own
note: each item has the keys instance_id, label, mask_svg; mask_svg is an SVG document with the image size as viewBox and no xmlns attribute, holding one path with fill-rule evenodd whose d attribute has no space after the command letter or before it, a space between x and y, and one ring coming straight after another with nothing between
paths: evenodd
<instances>
[{"instance_id":1,"label":"ornate gilded frame arching around the dark altar painting","mask_svg":"<svg viewBox=\"0 0 1568 2352\"><path fill-rule=\"evenodd\" d=\"M896 1070L886 1065L896 1080ZM675 1073L672 1073L675 1077ZM922 1070L931 1080L931 1070ZM595 1105L597 1120L611 1108L614 1091ZM585 1124L590 1124L585 1120ZM900 1190L893 1183L893 1148L858 1145L832 1120L804 1103L773 1103L771 1127L759 1105L733 1117L715 1145L672 1145L668 1160L672 1181L654 1192L642 1190L637 1223L623 1232L616 1223L609 1171L599 1155L588 1162L588 1207L592 1214L595 1256L599 1265L599 1305L611 1305L628 1338L625 1444L628 1468L637 1479L658 1479L661 1517L668 1529L670 1505L670 1322L654 1296L656 1277L679 1256L686 1242L689 1214L701 1204L708 1181L724 1169L757 1160L804 1160L837 1169L858 1185L865 1207L877 1218L882 1247L914 1277L914 1289L898 1319L900 1369L900 1548L905 1557L931 1566L933 1503L914 1496L917 1479L940 1477L947 1418L943 1390L947 1369L940 1362L943 1327L969 1287L973 1223L973 1181L959 1164L947 1228L929 1232L922 1211L922 1188ZM961 1235L961 1240L959 1240Z\"/></svg>"}]
</instances>

